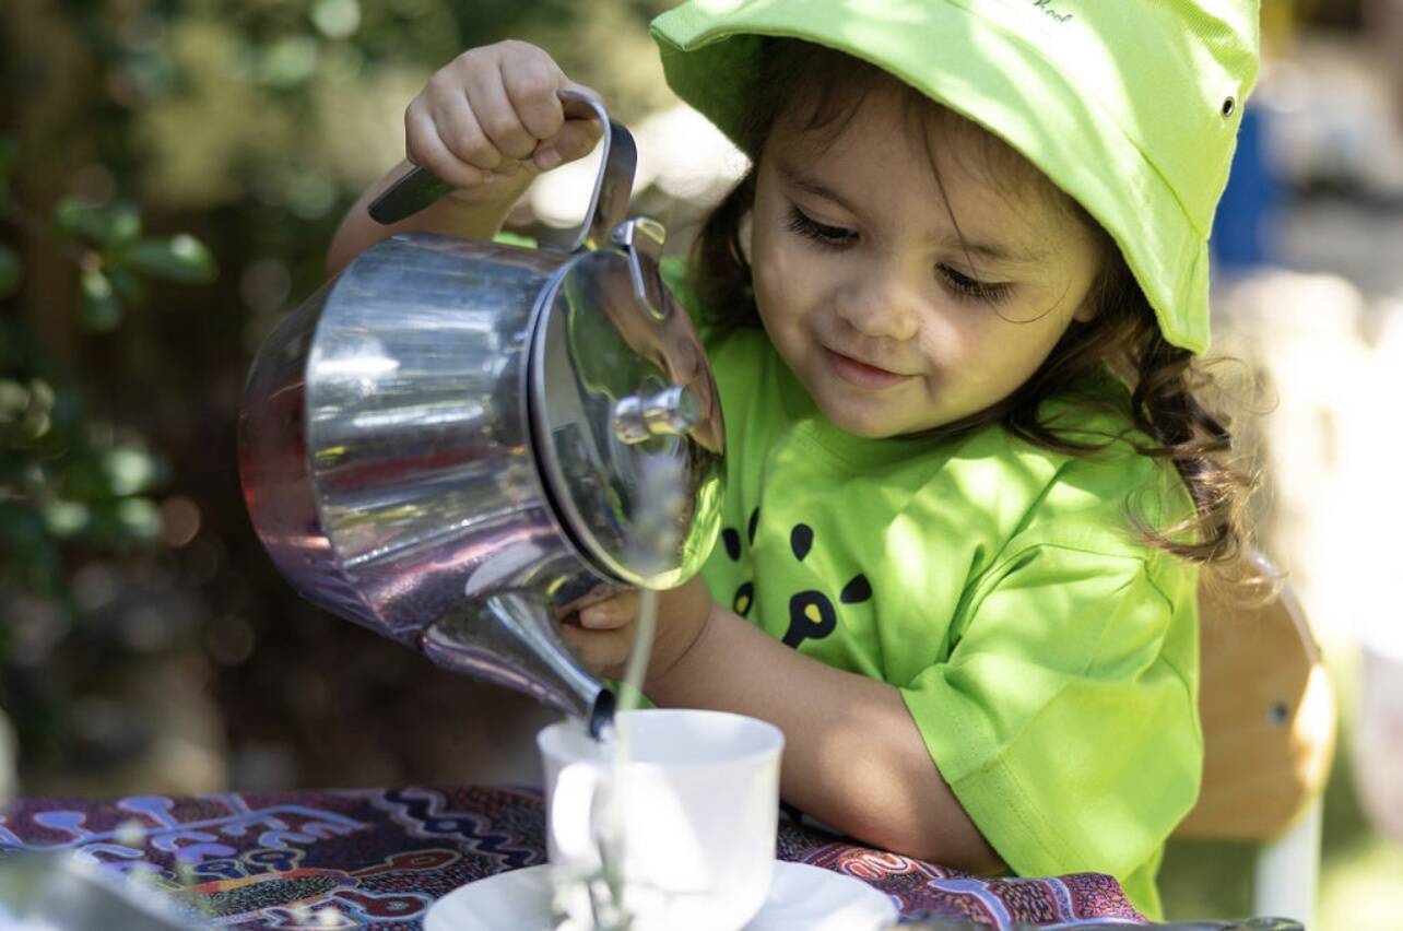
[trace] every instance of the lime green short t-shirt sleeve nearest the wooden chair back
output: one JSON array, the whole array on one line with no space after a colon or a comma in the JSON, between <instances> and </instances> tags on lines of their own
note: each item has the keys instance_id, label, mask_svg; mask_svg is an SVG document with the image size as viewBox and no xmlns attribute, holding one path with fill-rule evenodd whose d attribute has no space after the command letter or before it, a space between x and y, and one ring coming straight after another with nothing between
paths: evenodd
<instances>
[{"instance_id":1,"label":"lime green short t-shirt sleeve nearest the wooden chair back","mask_svg":"<svg viewBox=\"0 0 1403 931\"><path fill-rule=\"evenodd\" d=\"M1153 871L1198 795L1197 572L1035 543L967 599L946 662L902 688L941 775L1019 875Z\"/></svg>"}]
</instances>

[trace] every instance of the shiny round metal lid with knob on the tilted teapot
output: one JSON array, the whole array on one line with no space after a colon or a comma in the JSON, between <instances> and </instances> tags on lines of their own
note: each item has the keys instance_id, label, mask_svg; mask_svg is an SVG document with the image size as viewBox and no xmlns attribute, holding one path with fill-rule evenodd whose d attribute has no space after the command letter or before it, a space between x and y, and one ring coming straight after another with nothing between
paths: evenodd
<instances>
[{"instance_id":1,"label":"shiny round metal lid with knob on the tilted teapot","mask_svg":"<svg viewBox=\"0 0 1403 931\"><path fill-rule=\"evenodd\" d=\"M619 224L543 296L529 407L556 513L627 585L694 575L721 523L725 430L706 352L658 275L662 229ZM637 240L637 243L636 243Z\"/></svg>"}]
</instances>

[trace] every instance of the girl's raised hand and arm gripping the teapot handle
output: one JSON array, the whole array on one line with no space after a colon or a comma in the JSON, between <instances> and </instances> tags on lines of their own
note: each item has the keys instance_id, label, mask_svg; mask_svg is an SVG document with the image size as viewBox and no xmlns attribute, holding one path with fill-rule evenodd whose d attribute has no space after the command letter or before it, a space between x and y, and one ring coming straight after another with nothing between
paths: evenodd
<instances>
[{"instance_id":1,"label":"girl's raised hand and arm gripping the teapot handle","mask_svg":"<svg viewBox=\"0 0 1403 931\"><path fill-rule=\"evenodd\" d=\"M407 160L356 201L327 250L335 275L362 250L405 230L490 240L512 205L542 171L582 158L602 128L567 119L557 93L575 84L542 49L498 42L463 52L439 69L404 111ZM411 165L422 165L456 189L394 226L380 226L366 206Z\"/></svg>"}]
</instances>

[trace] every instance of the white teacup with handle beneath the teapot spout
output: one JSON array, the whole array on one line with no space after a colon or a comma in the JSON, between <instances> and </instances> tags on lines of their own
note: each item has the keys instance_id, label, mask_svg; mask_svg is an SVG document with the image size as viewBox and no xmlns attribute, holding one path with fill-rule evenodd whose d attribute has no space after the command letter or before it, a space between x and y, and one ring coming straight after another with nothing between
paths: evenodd
<instances>
[{"instance_id":1,"label":"white teacup with handle beneath the teapot spout","mask_svg":"<svg viewBox=\"0 0 1403 931\"><path fill-rule=\"evenodd\" d=\"M629 760L578 721L543 729L547 850L561 882L599 875L617 803L623 909L640 931L735 931L765 904L774 867L780 752L774 725L723 711L629 711ZM568 897L567 897L568 902ZM574 914L577 907L565 906Z\"/></svg>"}]
</instances>

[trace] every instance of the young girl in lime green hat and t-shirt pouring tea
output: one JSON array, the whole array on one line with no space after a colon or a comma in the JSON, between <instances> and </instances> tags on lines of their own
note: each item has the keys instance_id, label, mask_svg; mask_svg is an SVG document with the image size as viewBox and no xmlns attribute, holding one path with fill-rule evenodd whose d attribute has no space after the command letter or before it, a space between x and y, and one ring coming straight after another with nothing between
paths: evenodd
<instances>
[{"instance_id":1,"label":"young girl in lime green hat and t-shirt pouring tea","mask_svg":"<svg viewBox=\"0 0 1403 931\"><path fill-rule=\"evenodd\" d=\"M1157 916L1202 766L1197 569L1242 533L1193 356L1256 4L696 0L652 31L753 167L665 269L730 474L647 695L777 723L784 799L857 840L1110 872ZM495 234L598 137L563 87L518 42L439 70L408 160L459 189L397 229ZM567 634L619 674L636 609Z\"/></svg>"}]
</instances>

